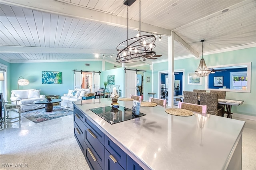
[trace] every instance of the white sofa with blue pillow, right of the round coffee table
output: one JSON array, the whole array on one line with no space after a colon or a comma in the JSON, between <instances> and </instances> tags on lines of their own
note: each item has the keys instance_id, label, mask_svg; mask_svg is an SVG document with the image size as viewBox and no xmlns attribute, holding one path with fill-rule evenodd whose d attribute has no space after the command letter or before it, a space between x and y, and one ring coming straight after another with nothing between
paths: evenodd
<instances>
[{"instance_id":1,"label":"white sofa with blue pillow, right of the round coffee table","mask_svg":"<svg viewBox=\"0 0 256 170\"><path fill-rule=\"evenodd\" d=\"M62 97L60 97L60 99L62 99L60 105L65 108L73 108L72 101L82 100L82 97L89 93L91 93L91 89L68 90L68 93L65 93Z\"/></svg>"}]
</instances>

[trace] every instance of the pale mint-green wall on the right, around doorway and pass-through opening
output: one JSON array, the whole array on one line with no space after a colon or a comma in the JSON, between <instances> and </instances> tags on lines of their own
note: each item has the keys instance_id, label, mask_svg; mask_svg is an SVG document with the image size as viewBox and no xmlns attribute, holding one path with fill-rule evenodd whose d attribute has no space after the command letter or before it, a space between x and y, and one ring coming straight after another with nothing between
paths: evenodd
<instances>
[{"instance_id":1,"label":"pale mint-green wall on the right, around doorway and pass-through opening","mask_svg":"<svg viewBox=\"0 0 256 170\"><path fill-rule=\"evenodd\" d=\"M238 93L238 92L227 92L226 99L238 99L244 100L243 105L233 106L232 112L243 115L256 116L256 47L239 49L234 51L228 51L223 53L216 53L211 55L204 55L206 65L208 67L215 65L228 65L237 63L252 63L251 70L251 93ZM188 85L188 73L194 72L199 64L199 59L194 57L188 59L180 59L174 61L174 69L185 69L185 91L192 91L193 89L204 89L205 88L205 77L202 77L202 85ZM153 83L153 91L158 91L158 71L168 70L168 62L153 64L153 77L156 80Z\"/></svg>"}]
</instances>

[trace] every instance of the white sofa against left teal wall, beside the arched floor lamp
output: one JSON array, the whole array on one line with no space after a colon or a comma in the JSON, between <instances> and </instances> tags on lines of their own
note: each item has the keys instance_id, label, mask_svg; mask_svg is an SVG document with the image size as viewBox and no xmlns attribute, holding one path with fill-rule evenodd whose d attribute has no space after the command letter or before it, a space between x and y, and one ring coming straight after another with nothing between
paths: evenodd
<instances>
[{"instance_id":1,"label":"white sofa against left teal wall, beside the arched floor lamp","mask_svg":"<svg viewBox=\"0 0 256 170\"><path fill-rule=\"evenodd\" d=\"M37 100L45 100L45 95L40 95L40 90L36 89L28 89L28 90L12 90L12 94L10 97L11 101L18 101L18 105L20 105L20 111L26 112L35 109L40 109L44 107L44 104L35 104L33 101ZM15 104L16 102L12 102Z\"/></svg>"}]
</instances>

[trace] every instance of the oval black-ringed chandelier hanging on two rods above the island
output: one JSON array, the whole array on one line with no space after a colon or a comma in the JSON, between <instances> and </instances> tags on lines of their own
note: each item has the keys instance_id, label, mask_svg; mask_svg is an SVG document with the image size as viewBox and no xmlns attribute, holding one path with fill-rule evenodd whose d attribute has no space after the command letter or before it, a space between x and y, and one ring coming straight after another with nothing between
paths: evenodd
<instances>
[{"instance_id":1,"label":"oval black-ringed chandelier hanging on two rods above the island","mask_svg":"<svg viewBox=\"0 0 256 170\"><path fill-rule=\"evenodd\" d=\"M117 45L118 51L116 62L118 63L130 63L135 61L142 61L149 59L156 55L155 51L152 51L156 45L156 37L154 35L144 35L128 39L128 6L130 6L135 0L124 1L124 5L127 6L127 40ZM139 30L140 31L140 30Z\"/></svg>"}]
</instances>

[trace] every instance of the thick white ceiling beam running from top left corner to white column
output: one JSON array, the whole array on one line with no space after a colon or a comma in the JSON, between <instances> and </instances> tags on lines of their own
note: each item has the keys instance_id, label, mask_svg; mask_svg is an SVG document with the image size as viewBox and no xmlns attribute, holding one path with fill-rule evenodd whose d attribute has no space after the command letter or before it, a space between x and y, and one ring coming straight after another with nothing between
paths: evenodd
<instances>
[{"instance_id":1,"label":"thick white ceiling beam running from top left corner to white column","mask_svg":"<svg viewBox=\"0 0 256 170\"><path fill-rule=\"evenodd\" d=\"M127 18L116 16L114 14L108 14L106 12L100 12L80 6L75 6L68 3L58 2L56 0L1 0L2 4L11 6L20 6L23 8L30 8L42 12L49 12L52 14L68 16L71 18L79 18L85 20L91 20L100 22L112 26L119 26L127 28ZM129 28L138 30L138 21L129 19ZM171 35L171 30L153 26L150 24L140 23L141 31L150 32L159 35Z\"/></svg>"}]
</instances>

